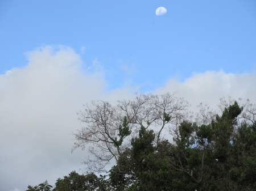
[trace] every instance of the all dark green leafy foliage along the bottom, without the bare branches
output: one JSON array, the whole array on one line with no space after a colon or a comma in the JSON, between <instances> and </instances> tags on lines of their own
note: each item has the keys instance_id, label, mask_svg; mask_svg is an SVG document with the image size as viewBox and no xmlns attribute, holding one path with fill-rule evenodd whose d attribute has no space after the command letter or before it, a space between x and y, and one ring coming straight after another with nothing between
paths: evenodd
<instances>
[{"instance_id":1,"label":"all dark green leafy foliage along the bottom, without the bare branches","mask_svg":"<svg viewBox=\"0 0 256 191\"><path fill-rule=\"evenodd\" d=\"M120 152L118 162L106 176L94 173L79 175L75 171L58 179L53 190L253 190L256 189L256 121L238 126L242 112L237 102L225 108L209 124L196 125L183 121L173 143L155 142L153 130L144 126L130 147ZM171 116L164 113L164 122ZM147 124L150 124L147 122ZM119 140L112 140L119 149L131 134L129 121L119 125ZM31 191L49 191L48 182L28 186Z\"/></svg>"}]
</instances>

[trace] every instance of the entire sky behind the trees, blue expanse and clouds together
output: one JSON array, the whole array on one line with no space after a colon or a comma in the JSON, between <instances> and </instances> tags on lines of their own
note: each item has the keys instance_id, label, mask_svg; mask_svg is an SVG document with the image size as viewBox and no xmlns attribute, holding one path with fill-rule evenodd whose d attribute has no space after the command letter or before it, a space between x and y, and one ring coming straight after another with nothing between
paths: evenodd
<instances>
[{"instance_id":1,"label":"entire sky behind the trees, blue expanse and clouds together","mask_svg":"<svg viewBox=\"0 0 256 191\"><path fill-rule=\"evenodd\" d=\"M196 112L255 104L255 84L255 0L2 0L0 190L81 172L71 132L91 100L176 92Z\"/></svg>"}]
</instances>

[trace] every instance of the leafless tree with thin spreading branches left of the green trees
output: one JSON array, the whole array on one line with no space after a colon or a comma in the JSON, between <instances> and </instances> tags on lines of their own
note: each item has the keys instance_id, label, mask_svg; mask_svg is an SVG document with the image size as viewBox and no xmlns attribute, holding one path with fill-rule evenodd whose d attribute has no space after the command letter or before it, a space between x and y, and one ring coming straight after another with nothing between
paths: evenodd
<instances>
[{"instance_id":1,"label":"leafless tree with thin spreading branches left of the green trees","mask_svg":"<svg viewBox=\"0 0 256 191\"><path fill-rule=\"evenodd\" d=\"M88 146L93 156L84 162L88 171L107 172L106 165L114 159L122 173L118 159L130 147L131 138L137 135L141 126L159 129L156 133L158 146L162 130L184 120L188 107L187 101L170 93L137 95L134 100L118 101L116 106L107 101L92 101L85 105L84 111L77 113L85 126L73 133L76 143L72 151Z\"/></svg>"}]
</instances>

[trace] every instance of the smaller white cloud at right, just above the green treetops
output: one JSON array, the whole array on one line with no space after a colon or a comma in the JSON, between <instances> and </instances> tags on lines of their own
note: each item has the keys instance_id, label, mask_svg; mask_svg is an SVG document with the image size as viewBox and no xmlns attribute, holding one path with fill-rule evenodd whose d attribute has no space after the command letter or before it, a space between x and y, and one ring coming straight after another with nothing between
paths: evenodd
<instances>
[{"instance_id":1,"label":"smaller white cloud at right, just above the green treetops","mask_svg":"<svg viewBox=\"0 0 256 191\"><path fill-rule=\"evenodd\" d=\"M164 92L177 92L177 96L184 97L190 104L192 111L196 111L199 103L207 104L216 109L221 97L231 96L243 102L250 99L256 103L256 73L233 74L224 71L206 71L194 73L184 82L170 79L164 87L159 87L155 94Z\"/></svg>"}]
</instances>

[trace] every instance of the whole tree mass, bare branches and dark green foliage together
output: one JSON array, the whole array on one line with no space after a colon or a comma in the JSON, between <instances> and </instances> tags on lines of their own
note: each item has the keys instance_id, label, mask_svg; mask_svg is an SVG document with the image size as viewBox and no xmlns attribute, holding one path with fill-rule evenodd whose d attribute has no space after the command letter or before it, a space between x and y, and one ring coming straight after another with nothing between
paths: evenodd
<instances>
[{"instance_id":1,"label":"whole tree mass, bare branches and dark green foliage together","mask_svg":"<svg viewBox=\"0 0 256 191\"><path fill-rule=\"evenodd\" d=\"M53 190L255 190L255 105L221 99L219 114L202 104L189 113L188 106L171 94L86 105L73 149L89 146L91 172L71 172Z\"/></svg>"}]
</instances>

